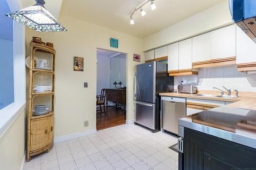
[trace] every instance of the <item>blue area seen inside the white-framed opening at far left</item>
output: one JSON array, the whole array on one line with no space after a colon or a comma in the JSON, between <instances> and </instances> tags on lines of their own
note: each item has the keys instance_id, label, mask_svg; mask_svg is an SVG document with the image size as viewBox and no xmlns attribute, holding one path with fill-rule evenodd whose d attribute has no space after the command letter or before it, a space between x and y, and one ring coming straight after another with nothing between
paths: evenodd
<instances>
[{"instance_id":1,"label":"blue area seen inside the white-framed opening at far left","mask_svg":"<svg viewBox=\"0 0 256 170\"><path fill-rule=\"evenodd\" d=\"M0 110L14 102L13 22L6 0L0 0Z\"/></svg>"}]
</instances>

